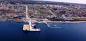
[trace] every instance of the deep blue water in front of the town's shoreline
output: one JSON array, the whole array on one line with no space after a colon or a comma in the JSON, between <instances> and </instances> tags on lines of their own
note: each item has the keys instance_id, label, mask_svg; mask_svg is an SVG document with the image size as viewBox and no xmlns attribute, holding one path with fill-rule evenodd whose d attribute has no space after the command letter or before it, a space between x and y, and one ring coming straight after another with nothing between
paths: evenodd
<instances>
[{"instance_id":1,"label":"deep blue water in front of the town's shoreline","mask_svg":"<svg viewBox=\"0 0 86 41\"><path fill-rule=\"evenodd\" d=\"M24 32L23 23L0 22L0 41L86 41L86 23L49 26L41 23L40 32Z\"/></svg>"}]
</instances>

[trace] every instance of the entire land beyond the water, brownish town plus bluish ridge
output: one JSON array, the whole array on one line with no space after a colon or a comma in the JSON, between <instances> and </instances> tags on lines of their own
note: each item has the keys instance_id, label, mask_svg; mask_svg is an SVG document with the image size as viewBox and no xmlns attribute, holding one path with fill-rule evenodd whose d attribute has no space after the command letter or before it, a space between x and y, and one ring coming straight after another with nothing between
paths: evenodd
<instances>
[{"instance_id":1,"label":"entire land beyond the water, brownish town plus bluish ridge","mask_svg":"<svg viewBox=\"0 0 86 41\"><path fill-rule=\"evenodd\" d=\"M36 15L36 17L39 17L39 18L47 18L47 19L53 18L54 20L63 20L64 18L65 20L68 20L68 21L69 19L71 20L72 18L68 19L68 18L65 18L65 16L82 17L82 20L86 19L86 4L53 2L53 1L30 1L30 0L0 0L0 4L1 4L2 19L4 19L3 17L6 17L6 18L8 17L13 19L15 16L24 16L25 15L24 13L25 7L23 7L24 5L27 5L29 7L30 11L28 12L33 14L31 17L35 17ZM7 9L4 9L4 8L7 8ZM39 16L34 13L37 13ZM79 20L79 18L73 18L73 19Z\"/></svg>"}]
</instances>

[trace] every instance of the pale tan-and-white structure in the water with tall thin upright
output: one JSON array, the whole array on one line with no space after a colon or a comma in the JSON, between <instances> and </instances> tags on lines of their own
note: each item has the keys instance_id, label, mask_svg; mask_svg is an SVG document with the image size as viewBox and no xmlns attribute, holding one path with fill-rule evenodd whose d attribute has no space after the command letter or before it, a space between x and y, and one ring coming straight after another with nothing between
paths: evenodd
<instances>
[{"instance_id":1,"label":"pale tan-and-white structure in the water with tall thin upright","mask_svg":"<svg viewBox=\"0 0 86 41\"><path fill-rule=\"evenodd\" d=\"M25 21L28 22L29 24L24 24L23 25L23 30L24 31L40 31L40 29L34 28L32 26L32 21L31 21L31 18L29 16L28 16L28 6L26 5L26 18L25 18Z\"/></svg>"}]
</instances>

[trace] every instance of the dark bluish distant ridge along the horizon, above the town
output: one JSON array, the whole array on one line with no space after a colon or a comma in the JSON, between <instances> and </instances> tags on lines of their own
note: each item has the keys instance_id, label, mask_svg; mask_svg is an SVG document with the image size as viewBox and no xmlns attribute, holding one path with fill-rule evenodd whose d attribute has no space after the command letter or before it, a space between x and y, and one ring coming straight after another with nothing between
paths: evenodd
<instances>
[{"instance_id":1,"label":"dark bluish distant ridge along the horizon, above the town","mask_svg":"<svg viewBox=\"0 0 86 41\"><path fill-rule=\"evenodd\" d=\"M66 2L52 2L52 1L34 1L34 0L0 0L1 2L7 2L11 4L55 4L55 5L86 5L86 4L78 4L78 3L66 3Z\"/></svg>"}]
</instances>

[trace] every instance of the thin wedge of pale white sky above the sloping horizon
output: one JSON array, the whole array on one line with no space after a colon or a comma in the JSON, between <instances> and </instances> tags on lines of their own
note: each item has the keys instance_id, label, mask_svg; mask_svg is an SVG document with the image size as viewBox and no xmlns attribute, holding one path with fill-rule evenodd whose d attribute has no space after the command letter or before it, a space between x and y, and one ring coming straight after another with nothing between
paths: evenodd
<instances>
[{"instance_id":1,"label":"thin wedge of pale white sky above the sloping horizon","mask_svg":"<svg viewBox=\"0 0 86 41\"><path fill-rule=\"evenodd\" d=\"M69 2L69 3L81 3L86 4L86 0L38 0L38 1L57 1L57 2Z\"/></svg>"}]
</instances>

